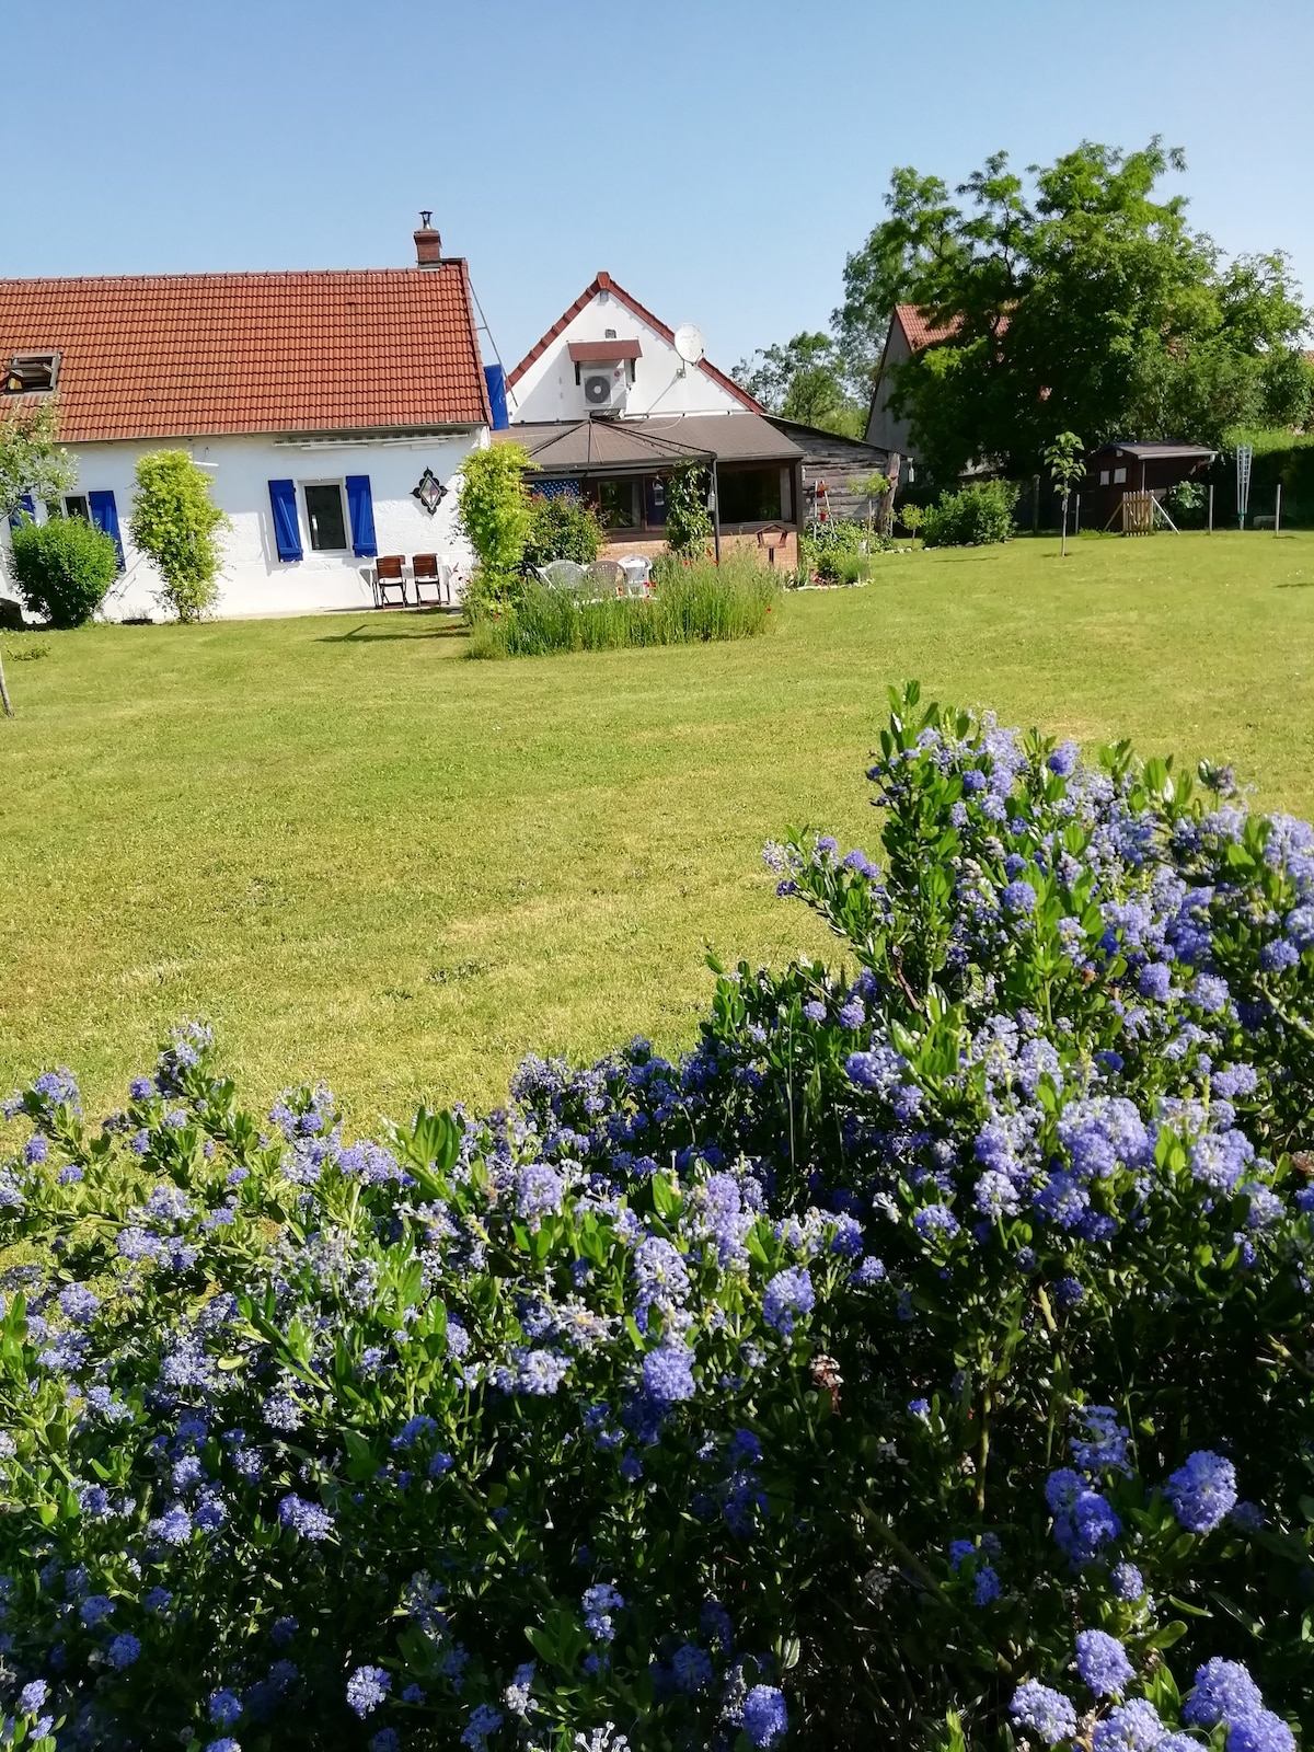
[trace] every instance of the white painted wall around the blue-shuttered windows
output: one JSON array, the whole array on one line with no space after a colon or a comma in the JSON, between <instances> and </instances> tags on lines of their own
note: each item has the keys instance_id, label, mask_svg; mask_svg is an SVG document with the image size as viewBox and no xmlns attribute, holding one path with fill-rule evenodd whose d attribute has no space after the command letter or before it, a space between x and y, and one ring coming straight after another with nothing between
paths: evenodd
<instances>
[{"instance_id":1,"label":"white painted wall around the blue-shuttered windows","mask_svg":"<svg viewBox=\"0 0 1314 1752\"><path fill-rule=\"evenodd\" d=\"M107 620L124 620L138 615L166 618L156 601L159 578L154 566L140 555L128 534L131 519L137 459L147 450L184 449L198 463L210 463L210 496L233 520L221 534L224 564L217 613L224 617L249 615L310 615L336 608L370 608L373 596L364 569L370 561L345 554L315 554L310 547L310 527L305 519L305 501L298 491L303 559L280 561L273 540L273 512L270 508L270 480L343 480L347 475L368 475L375 506L375 536L380 554L438 554L457 573L459 585L470 578L473 554L470 543L457 533L457 491L454 480L461 463L473 449L487 445L489 434L452 433L442 438L413 440L350 440L326 445L322 442L266 436L251 438L196 438L74 443L68 452L77 463L77 492L110 491L119 512L119 529L126 557L126 571L105 603ZM429 513L412 498L426 468L449 489L438 512ZM44 519L39 510L39 519ZM350 522L347 524L350 540ZM0 538L9 543L9 529ZM0 585L12 594L12 587ZM396 601L396 597L394 597Z\"/></svg>"}]
</instances>

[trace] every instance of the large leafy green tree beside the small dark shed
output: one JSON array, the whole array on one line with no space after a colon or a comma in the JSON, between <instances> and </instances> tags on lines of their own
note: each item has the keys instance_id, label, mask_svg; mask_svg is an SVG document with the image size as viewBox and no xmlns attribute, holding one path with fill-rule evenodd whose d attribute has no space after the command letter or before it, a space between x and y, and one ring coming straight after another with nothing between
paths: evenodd
<instances>
[{"instance_id":1,"label":"large leafy green tree beside the small dark shed","mask_svg":"<svg viewBox=\"0 0 1314 1752\"><path fill-rule=\"evenodd\" d=\"M1083 142L1027 180L995 152L957 198L894 173L836 315L850 354L895 303L951 326L894 389L936 473L1030 470L1062 431L1221 445L1230 426L1305 417L1309 314L1286 256L1225 261L1160 191L1174 170L1181 152L1155 138L1130 154Z\"/></svg>"}]
</instances>

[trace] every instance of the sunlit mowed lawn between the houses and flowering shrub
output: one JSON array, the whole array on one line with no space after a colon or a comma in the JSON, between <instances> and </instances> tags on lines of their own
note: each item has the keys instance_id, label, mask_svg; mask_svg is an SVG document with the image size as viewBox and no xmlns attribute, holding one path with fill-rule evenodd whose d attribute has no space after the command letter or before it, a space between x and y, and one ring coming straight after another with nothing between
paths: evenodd
<instances>
[{"instance_id":1,"label":"sunlit mowed lawn between the houses and flowering shrub","mask_svg":"<svg viewBox=\"0 0 1314 1752\"><path fill-rule=\"evenodd\" d=\"M431 615L51 636L0 720L0 1088L70 1063L102 1111L187 1014L249 1099L322 1076L361 1125L498 1100L529 1049L678 1048L706 944L825 946L760 844L874 848L906 676L1314 811L1314 536L887 555L773 622L501 664Z\"/></svg>"}]
</instances>

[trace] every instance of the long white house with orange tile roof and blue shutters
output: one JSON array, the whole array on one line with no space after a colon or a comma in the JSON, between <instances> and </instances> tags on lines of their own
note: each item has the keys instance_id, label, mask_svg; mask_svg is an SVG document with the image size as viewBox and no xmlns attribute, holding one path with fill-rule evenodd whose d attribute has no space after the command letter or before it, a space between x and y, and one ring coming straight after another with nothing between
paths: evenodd
<instances>
[{"instance_id":1,"label":"long white house with orange tile roof and blue shutters","mask_svg":"<svg viewBox=\"0 0 1314 1752\"><path fill-rule=\"evenodd\" d=\"M61 505L119 543L114 618L159 578L128 536L137 459L180 447L231 519L221 615L373 601L378 554L457 576L454 477L489 442L466 263L415 233L413 268L0 280L0 398L58 394L77 463Z\"/></svg>"}]
</instances>

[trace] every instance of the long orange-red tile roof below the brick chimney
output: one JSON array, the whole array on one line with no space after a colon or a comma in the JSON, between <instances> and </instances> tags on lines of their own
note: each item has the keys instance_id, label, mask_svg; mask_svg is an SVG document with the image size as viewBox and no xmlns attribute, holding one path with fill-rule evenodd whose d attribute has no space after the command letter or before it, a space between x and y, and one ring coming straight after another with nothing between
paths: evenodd
<instances>
[{"instance_id":1,"label":"long orange-red tile roof below the brick chimney","mask_svg":"<svg viewBox=\"0 0 1314 1752\"><path fill-rule=\"evenodd\" d=\"M487 426L464 261L0 280L0 364L60 352L60 436Z\"/></svg>"}]
</instances>

